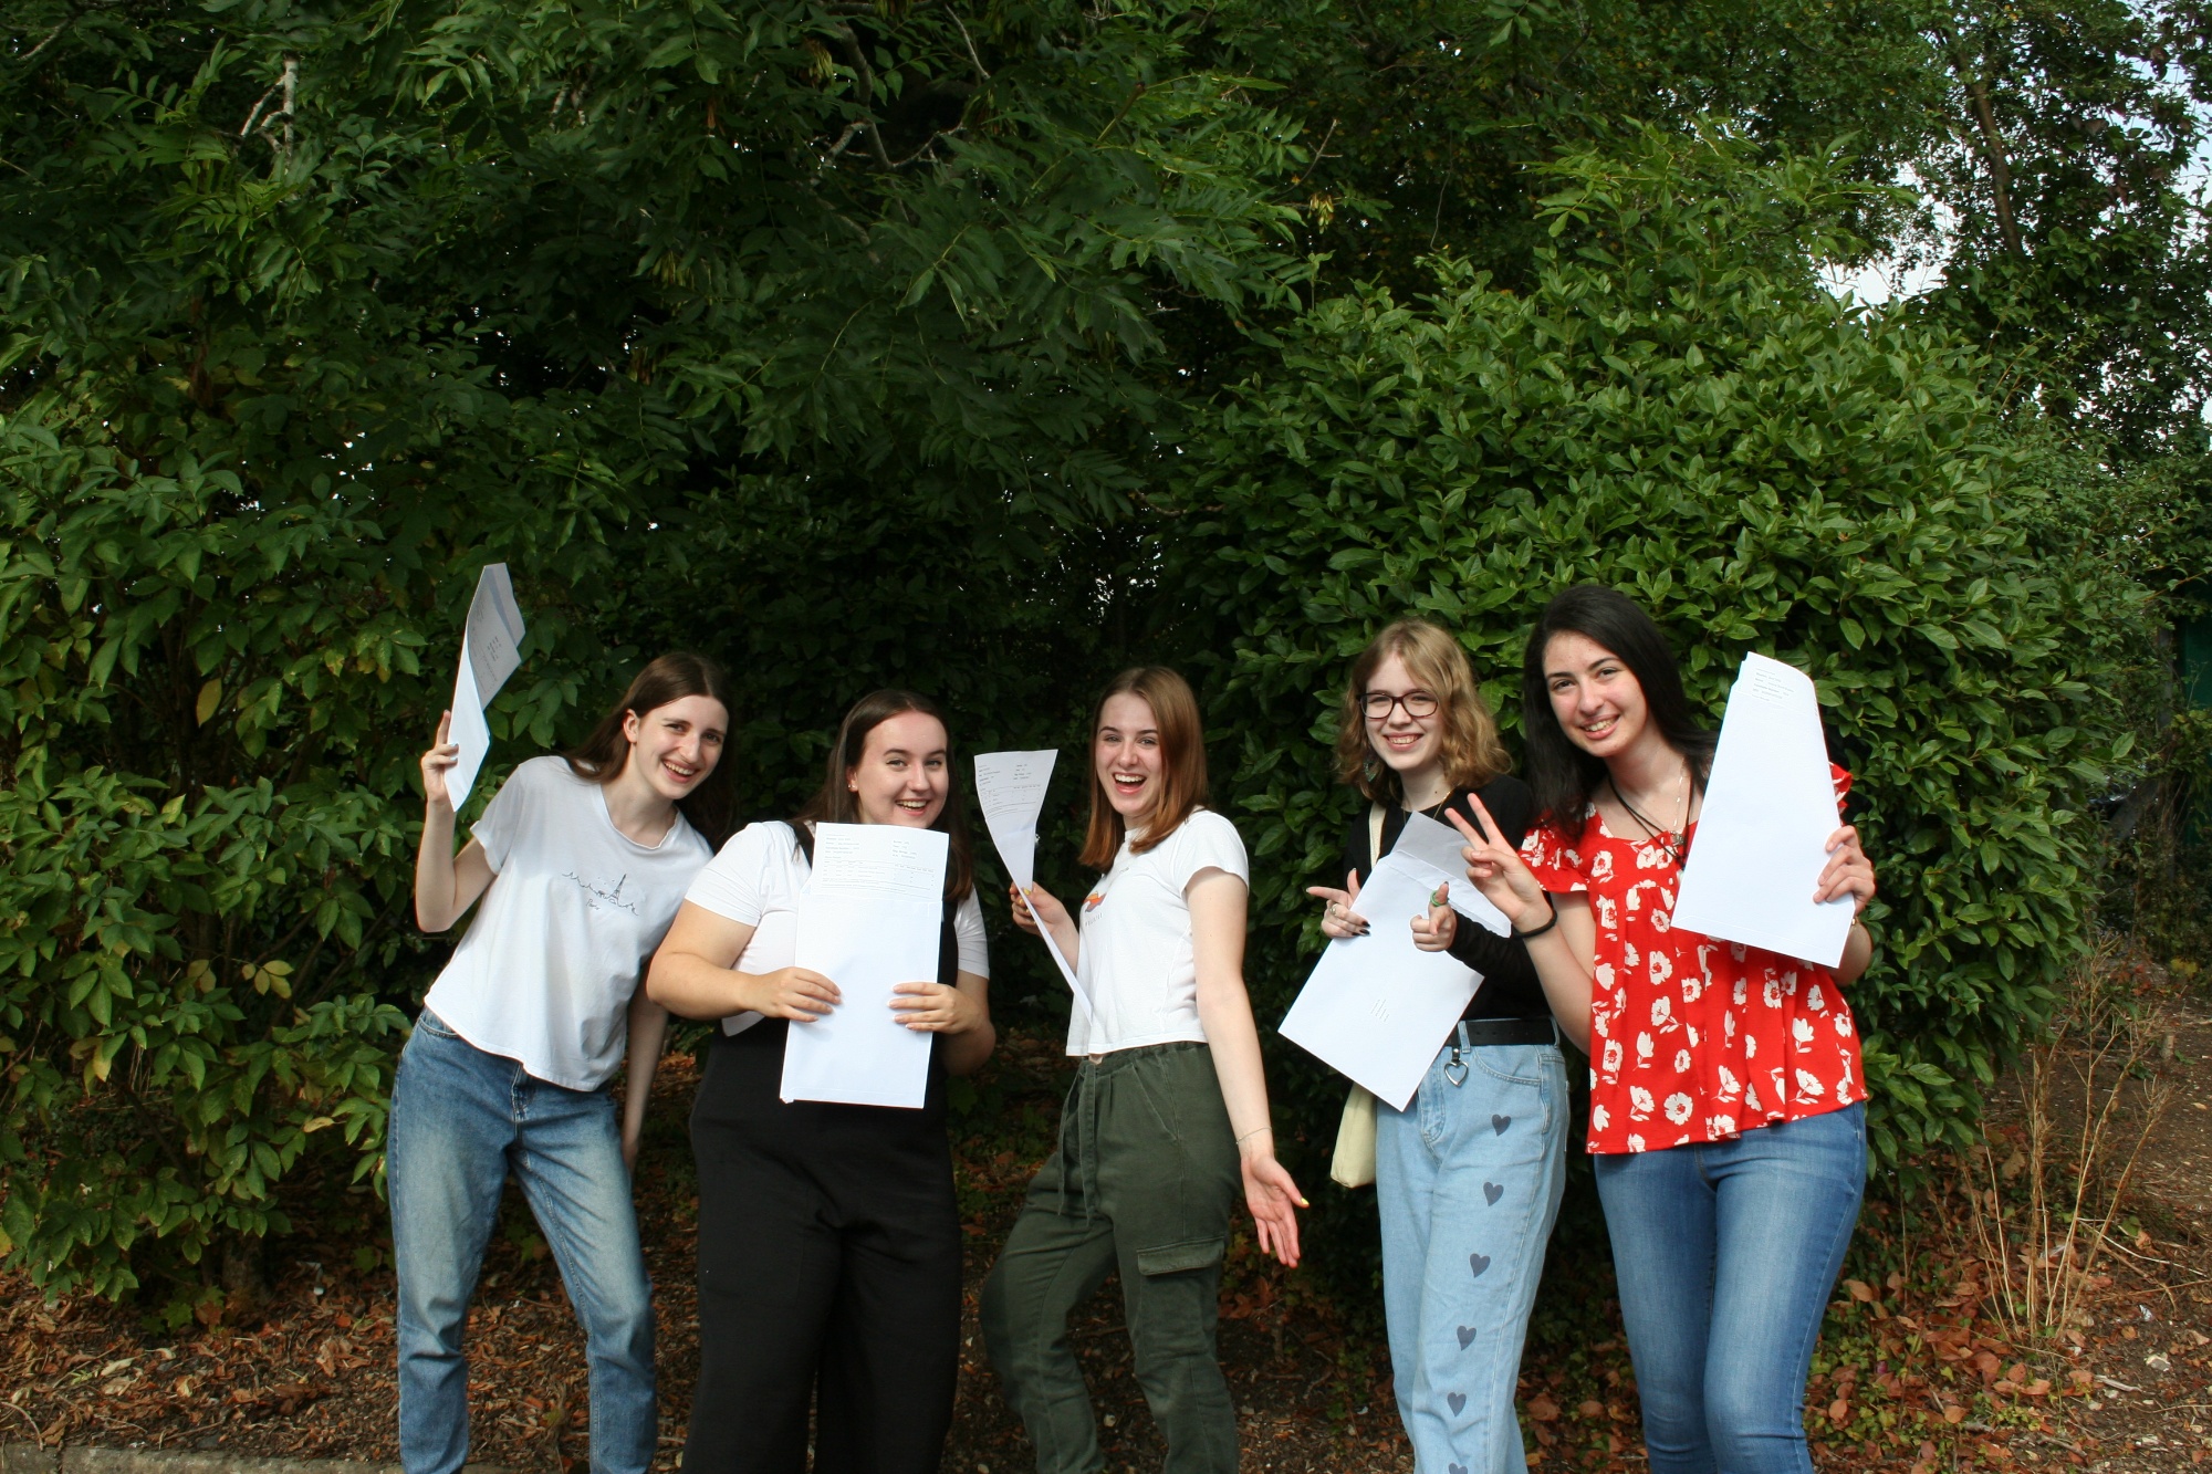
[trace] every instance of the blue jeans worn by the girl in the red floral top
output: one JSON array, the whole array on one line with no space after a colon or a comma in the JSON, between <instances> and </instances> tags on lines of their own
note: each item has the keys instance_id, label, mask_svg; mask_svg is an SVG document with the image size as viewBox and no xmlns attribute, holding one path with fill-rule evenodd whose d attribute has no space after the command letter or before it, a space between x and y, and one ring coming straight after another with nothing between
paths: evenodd
<instances>
[{"instance_id":1,"label":"blue jeans worn by the girl in the red floral top","mask_svg":"<svg viewBox=\"0 0 2212 1474\"><path fill-rule=\"evenodd\" d=\"M1597 1158L1652 1474L1812 1474L1805 1377L1865 1184L1865 1104Z\"/></svg>"}]
</instances>

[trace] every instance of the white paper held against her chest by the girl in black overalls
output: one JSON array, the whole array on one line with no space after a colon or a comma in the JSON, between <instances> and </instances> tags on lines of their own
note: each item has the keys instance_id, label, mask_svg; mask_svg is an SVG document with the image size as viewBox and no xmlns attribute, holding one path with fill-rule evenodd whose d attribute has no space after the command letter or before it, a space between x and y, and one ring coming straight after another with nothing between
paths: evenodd
<instances>
[{"instance_id":1,"label":"white paper held against her chest by the girl in black overalls","mask_svg":"<svg viewBox=\"0 0 2212 1474\"><path fill-rule=\"evenodd\" d=\"M799 896L799 967L843 998L783 1045L783 1100L845 1100L920 1109L929 1036L898 1023L891 987L933 983L945 930L940 830L896 823L816 823L814 870Z\"/></svg>"}]
</instances>

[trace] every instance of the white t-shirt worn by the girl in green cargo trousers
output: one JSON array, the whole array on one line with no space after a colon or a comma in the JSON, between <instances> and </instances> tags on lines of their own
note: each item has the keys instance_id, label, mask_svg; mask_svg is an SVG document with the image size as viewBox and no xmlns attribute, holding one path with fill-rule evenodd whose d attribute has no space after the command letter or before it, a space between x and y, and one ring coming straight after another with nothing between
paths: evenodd
<instances>
[{"instance_id":1,"label":"white t-shirt worn by the girl in green cargo trousers","mask_svg":"<svg viewBox=\"0 0 2212 1474\"><path fill-rule=\"evenodd\" d=\"M1199 963L1183 890L1201 870L1225 870L1250 885L1237 826L1199 808L1164 841L1135 854L1128 839L1113 870L1082 905L1075 976L1091 994L1068 1016L1068 1053L1113 1053L1172 1040L1206 1042L1199 1023Z\"/></svg>"}]
</instances>

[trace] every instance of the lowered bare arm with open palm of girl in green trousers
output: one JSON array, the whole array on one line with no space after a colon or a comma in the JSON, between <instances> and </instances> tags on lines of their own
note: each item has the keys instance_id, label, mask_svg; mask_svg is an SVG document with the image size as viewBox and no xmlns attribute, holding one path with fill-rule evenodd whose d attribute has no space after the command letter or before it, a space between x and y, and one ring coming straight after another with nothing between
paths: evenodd
<instances>
[{"instance_id":1,"label":"lowered bare arm with open palm of girl in green trousers","mask_svg":"<svg viewBox=\"0 0 2212 1474\"><path fill-rule=\"evenodd\" d=\"M1298 1208L1305 1195L1274 1160L1267 1073L1259 1058L1259 1025L1243 985L1245 883L1228 870L1201 870L1183 892L1199 969L1199 1025L1221 1078L1221 1102L1237 1133L1237 1164L1259 1246L1283 1264L1298 1262Z\"/></svg>"}]
</instances>

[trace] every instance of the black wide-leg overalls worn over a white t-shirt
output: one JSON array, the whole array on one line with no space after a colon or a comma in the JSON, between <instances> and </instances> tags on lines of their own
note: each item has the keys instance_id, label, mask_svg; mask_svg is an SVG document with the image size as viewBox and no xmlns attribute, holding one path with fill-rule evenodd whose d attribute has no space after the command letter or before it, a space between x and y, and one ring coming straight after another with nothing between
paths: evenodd
<instances>
[{"instance_id":1,"label":"black wide-leg overalls worn over a white t-shirt","mask_svg":"<svg viewBox=\"0 0 2212 1474\"><path fill-rule=\"evenodd\" d=\"M960 943L945 905L938 980ZM699 1390L684 1474L933 1474L960 1374L945 1049L920 1111L776 1098L790 1023L717 1031L692 1104Z\"/></svg>"}]
</instances>

